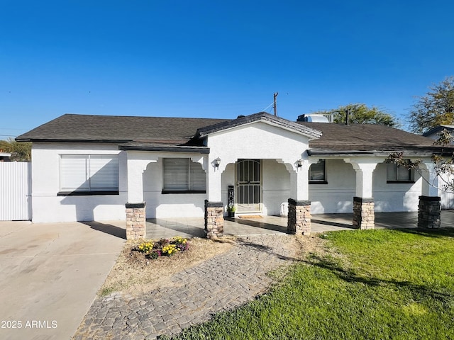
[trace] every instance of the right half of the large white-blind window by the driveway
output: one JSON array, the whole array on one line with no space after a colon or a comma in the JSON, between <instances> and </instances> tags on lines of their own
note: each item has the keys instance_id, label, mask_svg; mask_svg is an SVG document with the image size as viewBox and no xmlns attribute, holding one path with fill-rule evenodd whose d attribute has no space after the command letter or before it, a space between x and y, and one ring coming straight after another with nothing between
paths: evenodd
<instances>
[{"instance_id":1,"label":"right half of the large white-blind window by the driveway","mask_svg":"<svg viewBox=\"0 0 454 340\"><path fill-rule=\"evenodd\" d=\"M93 191L118 190L118 157L111 154L90 156L90 188Z\"/></svg>"}]
</instances>

